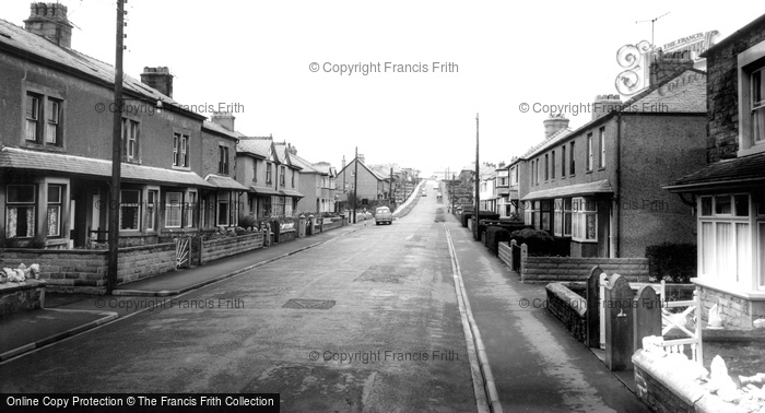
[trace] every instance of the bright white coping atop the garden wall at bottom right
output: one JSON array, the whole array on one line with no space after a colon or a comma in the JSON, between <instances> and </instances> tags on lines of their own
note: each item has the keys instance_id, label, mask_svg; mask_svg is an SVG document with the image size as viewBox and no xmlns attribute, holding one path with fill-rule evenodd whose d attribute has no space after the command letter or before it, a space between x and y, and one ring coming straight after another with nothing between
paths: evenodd
<instances>
[{"instance_id":1,"label":"bright white coping atop the garden wall at bottom right","mask_svg":"<svg viewBox=\"0 0 765 413\"><path fill-rule=\"evenodd\" d=\"M711 397L696 380L688 378L686 369L671 368L666 357L651 355L640 349L633 354L632 362L688 406L695 408L696 412L726 412L731 408L719 398Z\"/></svg>"}]
</instances>

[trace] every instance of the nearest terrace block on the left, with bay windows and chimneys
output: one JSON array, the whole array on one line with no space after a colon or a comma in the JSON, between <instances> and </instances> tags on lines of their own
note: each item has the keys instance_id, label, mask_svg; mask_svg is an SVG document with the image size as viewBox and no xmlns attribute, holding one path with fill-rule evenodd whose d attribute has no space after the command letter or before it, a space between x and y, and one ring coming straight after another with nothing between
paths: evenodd
<instances>
[{"instance_id":1,"label":"nearest terrace block on the left, with bay windows and chimneys","mask_svg":"<svg viewBox=\"0 0 765 413\"><path fill-rule=\"evenodd\" d=\"M31 10L24 28L0 20L0 234L71 248L109 231L144 245L202 225L200 200L228 181L202 178L203 134L229 148L233 137L178 106L167 68L125 75L125 107L115 108L114 68L71 49L67 8ZM114 110L123 111L118 228L107 223ZM215 199L216 219L227 215Z\"/></svg>"}]
</instances>

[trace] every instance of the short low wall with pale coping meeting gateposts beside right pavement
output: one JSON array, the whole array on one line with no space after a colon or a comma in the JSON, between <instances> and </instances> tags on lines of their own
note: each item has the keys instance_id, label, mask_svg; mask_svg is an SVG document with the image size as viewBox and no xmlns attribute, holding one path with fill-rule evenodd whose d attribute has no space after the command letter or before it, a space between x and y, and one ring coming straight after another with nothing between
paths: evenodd
<instances>
[{"instance_id":1,"label":"short low wall with pale coping meeting gateposts beside right pavement","mask_svg":"<svg viewBox=\"0 0 765 413\"><path fill-rule=\"evenodd\" d=\"M555 316L574 338L587 342L587 299L575 292L570 283L550 283L545 286L548 292L546 308Z\"/></svg>"}]
</instances>

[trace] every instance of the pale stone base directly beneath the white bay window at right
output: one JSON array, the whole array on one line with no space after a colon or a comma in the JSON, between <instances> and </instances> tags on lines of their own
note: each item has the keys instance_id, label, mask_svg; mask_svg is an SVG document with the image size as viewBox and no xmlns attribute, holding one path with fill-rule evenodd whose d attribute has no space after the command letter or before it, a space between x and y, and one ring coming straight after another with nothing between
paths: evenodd
<instances>
[{"instance_id":1,"label":"pale stone base directly beneath the white bay window at right","mask_svg":"<svg viewBox=\"0 0 765 413\"><path fill-rule=\"evenodd\" d=\"M732 294L698 285L705 321L709 309L718 304L722 326L734 329L751 329L754 320L765 318L765 300L750 300Z\"/></svg>"}]
</instances>

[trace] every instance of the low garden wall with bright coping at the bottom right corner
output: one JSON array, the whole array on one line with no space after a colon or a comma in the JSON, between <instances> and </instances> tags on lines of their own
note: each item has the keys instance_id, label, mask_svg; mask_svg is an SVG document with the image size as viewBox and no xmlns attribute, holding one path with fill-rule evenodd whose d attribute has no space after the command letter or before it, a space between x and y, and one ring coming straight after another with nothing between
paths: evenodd
<instances>
[{"instance_id":1,"label":"low garden wall with bright coping at the bottom right corner","mask_svg":"<svg viewBox=\"0 0 765 413\"><path fill-rule=\"evenodd\" d=\"M635 384L640 400L655 412L727 412L731 405L709 394L687 369L673 368L664 357L638 350L633 354Z\"/></svg>"}]
</instances>

